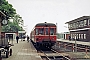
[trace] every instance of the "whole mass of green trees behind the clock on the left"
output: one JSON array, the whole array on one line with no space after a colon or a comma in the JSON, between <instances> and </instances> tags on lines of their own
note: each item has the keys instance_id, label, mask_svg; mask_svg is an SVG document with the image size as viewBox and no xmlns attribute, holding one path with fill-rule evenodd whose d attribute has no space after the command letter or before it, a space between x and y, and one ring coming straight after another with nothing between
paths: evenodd
<instances>
[{"instance_id":1,"label":"whole mass of green trees behind the clock on the left","mask_svg":"<svg viewBox=\"0 0 90 60\"><path fill-rule=\"evenodd\" d=\"M19 14L16 13L16 10L13 8L11 4L6 0L0 0L0 11L2 11L6 15L6 20L8 20L8 24L2 26L2 31L4 32L17 32L18 30L23 30L23 20ZM10 20L13 20L11 22Z\"/></svg>"}]
</instances>

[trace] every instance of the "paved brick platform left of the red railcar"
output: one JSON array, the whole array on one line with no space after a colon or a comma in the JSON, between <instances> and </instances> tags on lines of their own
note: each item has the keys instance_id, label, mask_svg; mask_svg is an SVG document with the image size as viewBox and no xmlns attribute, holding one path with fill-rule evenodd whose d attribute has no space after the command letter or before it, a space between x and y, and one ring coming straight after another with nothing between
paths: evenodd
<instances>
[{"instance_id":1,"label":"paved brick platform left of the red railcar","mask_svg":"<svg viewBox=\"0 0 90 60\"><path fill-rule=\"evenodd\" d=\"M2 60L42 60L31 42L19 40L19 43L16 43L14 40L13 44L12 56L2 57Z\"/></svg>"}]
</instances>

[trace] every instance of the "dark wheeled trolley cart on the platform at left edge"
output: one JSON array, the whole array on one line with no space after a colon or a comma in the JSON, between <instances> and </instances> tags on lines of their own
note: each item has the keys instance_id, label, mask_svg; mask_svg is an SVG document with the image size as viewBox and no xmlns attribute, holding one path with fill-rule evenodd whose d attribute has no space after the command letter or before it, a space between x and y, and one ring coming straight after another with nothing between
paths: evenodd
<instances>
[{"instance_id":1,"label":"dark wheeled trolley cart on the platform at left edge","mask_svg":"<svg viewBox=\"0 0 90 60\"><path fill-rule=\"evenodd\" d=\"M0 57L2 57L2 53L5 54L6 58L12 55L12 44L9 44L8 38L0 39Z\"/></svg>"}]
</instances>

